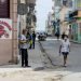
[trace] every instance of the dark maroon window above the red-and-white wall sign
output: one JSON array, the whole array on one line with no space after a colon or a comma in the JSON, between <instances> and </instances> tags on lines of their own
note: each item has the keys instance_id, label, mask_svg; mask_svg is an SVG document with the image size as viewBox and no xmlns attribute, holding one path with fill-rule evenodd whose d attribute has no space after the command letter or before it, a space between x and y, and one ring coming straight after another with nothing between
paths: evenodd
<instances>
[{"instance_id":1,"label":"dark maroon window above the red-and-white wall sign","mask_svg":"<svg viewBox=\"0 0 81 81\"><path fill-rule=\"evenodd\" d=\"M10 18L10 0L0 0L0 18Z\"/></svg>"}]
</instances>

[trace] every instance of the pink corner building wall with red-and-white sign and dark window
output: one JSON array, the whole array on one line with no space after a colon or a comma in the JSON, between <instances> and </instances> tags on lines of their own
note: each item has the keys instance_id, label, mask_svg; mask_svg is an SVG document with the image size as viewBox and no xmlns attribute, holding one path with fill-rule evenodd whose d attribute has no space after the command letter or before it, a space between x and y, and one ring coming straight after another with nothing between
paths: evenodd
<instances>
[{"instance_id":1,"label":"pink corner building wall with red-and-white sign and dark window","mask_svg":"<svg viewBox=\"0 0 81 81\"><path fill-rule=\"evenodd\" d=\"M8 21L8 22L6 22ZM6 27L11 23L11 38ZM4 31L4 32L3 32ZM3 32L3 35L2 35ZM1 36L2 35L2 36ZM0 65L16 63L17 58L17 0L0 0Z\"/></svg>"}]
</instances>

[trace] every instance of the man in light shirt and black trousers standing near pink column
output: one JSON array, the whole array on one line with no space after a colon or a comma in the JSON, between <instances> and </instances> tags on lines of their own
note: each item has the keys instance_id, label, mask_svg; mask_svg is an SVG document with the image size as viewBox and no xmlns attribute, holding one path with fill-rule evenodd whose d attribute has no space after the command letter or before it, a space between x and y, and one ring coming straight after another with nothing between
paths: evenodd
<instances>
[{"instance_id":1,"label":"man in light shirt and black trousers standing near pink column","mask_svg":"<svg viewBox=\"0 0 81 81\"><path fill-rule=\"evenodd\" d=\"M28 66L28 51L27 51L27 39L26 39L27 31L23 29L23 33L21 36L21 50L22 50L22 67L29 67Z\"/></svg>"}]
</instances>

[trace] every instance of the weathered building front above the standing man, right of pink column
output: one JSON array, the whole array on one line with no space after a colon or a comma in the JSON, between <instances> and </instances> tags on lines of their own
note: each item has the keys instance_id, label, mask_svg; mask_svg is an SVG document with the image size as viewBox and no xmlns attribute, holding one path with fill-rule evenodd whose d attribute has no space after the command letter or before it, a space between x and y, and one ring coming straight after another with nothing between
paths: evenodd
<instances>
[{"instance_id":1,"label":"weathered building front above the standing man, right of pink column","mask_svg":"<svg viewBox=\"0 0 81 81\"><path fill-rule=\"evenodd\" d=\"M36 0L18 0L18 8L22 5L24 9L18 10L19 22L21 22L21 30L23 28L28 29L29 31L36 29ZM21 14L25 12L24 14ZM22 31L21 31L22 32Z\"/></svg>"}]
</instances>

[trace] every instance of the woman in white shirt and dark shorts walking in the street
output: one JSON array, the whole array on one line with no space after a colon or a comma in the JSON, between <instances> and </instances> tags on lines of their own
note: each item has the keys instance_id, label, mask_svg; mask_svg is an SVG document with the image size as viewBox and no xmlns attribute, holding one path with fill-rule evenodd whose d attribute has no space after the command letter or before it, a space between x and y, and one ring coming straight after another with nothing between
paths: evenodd
<instances>
[{"instance_id":1,"label":"woman in white shirt and dark shorts walking in the street","mask_svg":"<svg viewBox=\"0 0 81 81\"><path fill-rule=\"evenodd\" d=\"M69 42L68 36L65 36L65 38L62 39L62 43L59 46L59 54L63 54L64 56L64 67L67 66L67 56L69 52L70 52L70 42Z\"/></svg>"}]
</instances>

